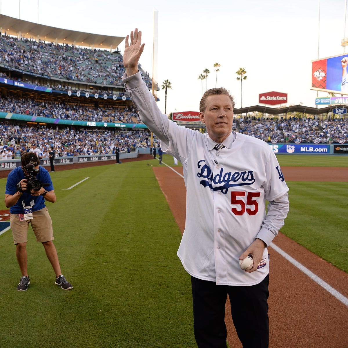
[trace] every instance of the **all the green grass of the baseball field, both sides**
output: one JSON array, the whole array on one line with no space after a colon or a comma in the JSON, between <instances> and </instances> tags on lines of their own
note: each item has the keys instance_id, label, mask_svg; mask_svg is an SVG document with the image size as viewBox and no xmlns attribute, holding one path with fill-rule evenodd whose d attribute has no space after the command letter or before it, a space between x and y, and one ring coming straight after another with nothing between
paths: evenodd
<instances>
[{"instance_id":1,"label":"all the green grass of the baseball field, both sides","mask_svg":"<svg viewBox=\"0 0 348 348\"><path fill-rule=\"evenodd\" d=\"M163 160L173 163L171 156ZM278 160L282 166L324 166L324 161L347 166L342 157ZM52 173L57 201L47 206L71 291L54 284L44 248L32 232L27 244L31 284L16 291L21 274L12 235L9 230L0 236L0 348L196 347L190 276L176 256L181 234L147 163ZM5 184L0 179L2 192ZM291 208L282 232L348 272L348 183L287 184ZM6 209L3 200L0 209Z\"/></svg>"}]
</instances>

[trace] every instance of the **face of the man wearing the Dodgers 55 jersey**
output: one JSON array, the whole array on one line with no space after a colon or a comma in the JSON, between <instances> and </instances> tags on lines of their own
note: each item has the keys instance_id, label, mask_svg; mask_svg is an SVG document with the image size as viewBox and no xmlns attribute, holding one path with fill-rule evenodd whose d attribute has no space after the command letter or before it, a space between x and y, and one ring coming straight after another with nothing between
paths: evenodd
<instances>
[{"instance_id":1,"label":"face of the man wearing the Dodgers 55 jersey","mask_svg":"<svg viewBox=\"0 0 348 348\"><path fill-rule=\"evenodd\" d=\"M223 142L232 131L233 106L227 95L209 95L205 110L199 113L209 137L217 143Z\"/></svg>"}]
</instances>

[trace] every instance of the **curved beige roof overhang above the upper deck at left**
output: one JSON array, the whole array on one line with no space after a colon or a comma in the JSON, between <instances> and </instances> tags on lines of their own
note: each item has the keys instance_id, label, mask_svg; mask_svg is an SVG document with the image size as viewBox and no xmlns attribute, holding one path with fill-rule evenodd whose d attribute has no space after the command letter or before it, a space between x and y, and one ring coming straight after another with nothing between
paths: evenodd
<instances>
[{"instance_id":1,"label":"curved beige roof overhang above the upper deck at left","mask_svg":"<svg viewBox=\"0 0 348 348\"><path fill-rule=\"evenodd\" d=\"M124 37L84 33L53 26L22 21L21 19L0 14L0 26L6 34L25 38L33 38L59 44L85 46L90 48L115 49L124 40Z\"/></svg>"}]
</instances>

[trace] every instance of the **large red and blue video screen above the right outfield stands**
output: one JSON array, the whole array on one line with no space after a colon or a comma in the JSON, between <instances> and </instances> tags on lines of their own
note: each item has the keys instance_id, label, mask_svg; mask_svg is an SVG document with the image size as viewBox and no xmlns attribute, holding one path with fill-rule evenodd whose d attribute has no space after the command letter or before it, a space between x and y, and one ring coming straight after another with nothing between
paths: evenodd
<instances>
[{"instance_id":1,"label":"large red and blue video screen above the right outfield stands","mask_svg":"<svg viewBox=\"0 0 348 348\"><path fill-rule=\"evenodd\" d=\"M347 65L348 54L313 60L311 89L348 94Z\"/></svg>"}]
</instances>

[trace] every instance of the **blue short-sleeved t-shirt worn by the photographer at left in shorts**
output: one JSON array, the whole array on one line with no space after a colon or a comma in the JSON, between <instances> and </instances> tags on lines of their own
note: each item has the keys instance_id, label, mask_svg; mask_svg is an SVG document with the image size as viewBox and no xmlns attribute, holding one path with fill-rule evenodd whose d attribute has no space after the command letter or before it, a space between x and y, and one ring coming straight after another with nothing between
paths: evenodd
<instances>
[{"instance_id":1,"label":"blue short-sleeved t-shirt worn by the photographer at left in shorts","mask_svg":"<svg viewBox=\"0 0 348 348\"><path fill-rule=\"evenodd\" d=\"M51 177L44 167L39 166L40 172L35 177L35 179L38 179L41 181L42 184L49 184L49 186L44 186L44 189L46 191L52 191L54 190ZM10 173L7 176L7 182L6 182L6 195L14 195L17 192L17 184L19 181L24 179L24 173L22 170L22 167L16 167L10 171ZM42 208L45 208L45 198L43 196L32 196L30 193L27 193L26 191L23 192L23 195L18 199L18 202L10 207L10 213L11 214L23 214L23 202L25 203L25 206L30 206L30 202L34 201L32 204L33 212L40 210Z\"/></svg>"}]
</instances>

